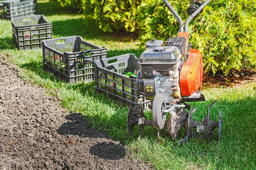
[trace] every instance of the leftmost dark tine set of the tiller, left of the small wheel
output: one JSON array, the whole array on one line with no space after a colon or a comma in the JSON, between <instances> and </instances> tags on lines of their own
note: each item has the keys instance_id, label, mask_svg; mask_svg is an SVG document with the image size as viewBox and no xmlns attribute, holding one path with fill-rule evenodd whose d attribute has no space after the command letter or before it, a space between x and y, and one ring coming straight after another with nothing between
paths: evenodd
<instances>
[{"instance_id":1,"label":"leftmost dark tine set of the tiller, left of the small wheel","mask_svg":"<svg viewBox=\"0 0 256 170\"><path fill-rule=\"evenodd\" d=\"M140 130L140 137L142 137L143 129L145 125L153 126L152 120L145 117L143 108L141 105L131 107L127 116L127 133L132 136L134 133L134 126L137 125Z\"/></svg>"}]
</instances>

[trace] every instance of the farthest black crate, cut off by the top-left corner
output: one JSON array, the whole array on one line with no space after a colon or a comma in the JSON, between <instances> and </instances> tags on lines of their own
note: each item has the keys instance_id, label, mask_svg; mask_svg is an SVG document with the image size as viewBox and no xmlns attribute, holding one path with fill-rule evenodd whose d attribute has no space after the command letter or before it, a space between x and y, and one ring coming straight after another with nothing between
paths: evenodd
<instances>
[{"instance_id":1,"label":"farthest black crate, cut off by the top-left corner","mask_svg":"<svg viewBox=\"0 0 256 170\"><path fill-rule=\"evenodd\" d=\"M10 20L13 17L25 17L37 14L36 0L0 1L0 19Z\"/></svg>"}]
</instances>

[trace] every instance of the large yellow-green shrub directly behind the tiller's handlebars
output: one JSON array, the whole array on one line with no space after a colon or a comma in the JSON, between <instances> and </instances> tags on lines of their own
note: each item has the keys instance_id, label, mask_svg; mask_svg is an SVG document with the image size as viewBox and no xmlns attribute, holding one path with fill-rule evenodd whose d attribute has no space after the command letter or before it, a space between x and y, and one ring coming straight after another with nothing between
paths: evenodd
<instances>
[{"instance_id":1,"label":"large yellow-green shrub directly behind the tiller's handlebars","mask_svg":"<svg viewBox=\"0 0 256 170\"><path fill-rule=\"evenodd\" d=\"M189 25L192 48L202 52L205 71L228 74L256 67L256 1L237 1L212 0ZM188 17L188 0L172 0L172 4L183 20ZM166 40L179 29L161 0L145 0L137 8L137 23L143 43L153 37Z\"/></svg>"}]
</instances>

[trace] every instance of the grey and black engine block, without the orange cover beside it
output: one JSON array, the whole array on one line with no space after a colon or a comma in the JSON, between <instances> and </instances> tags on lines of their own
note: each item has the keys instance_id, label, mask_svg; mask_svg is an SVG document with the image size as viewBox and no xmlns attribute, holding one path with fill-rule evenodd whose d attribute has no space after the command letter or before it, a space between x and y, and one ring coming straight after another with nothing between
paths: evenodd
<instances>
[{"instance_id":1,"label":"grey and black engine block, without the orange cover beside it","mask_svg":"<svg viewBox=\"0 0 256 170\"><path fill-rule=\"evenodd\" d=\"M175 46L148 47L140 56L140 76L143 93L153 100L156 94L163 94L166 102L181 98L179 77L182 54Z\"/></svg>"}]
</instances>

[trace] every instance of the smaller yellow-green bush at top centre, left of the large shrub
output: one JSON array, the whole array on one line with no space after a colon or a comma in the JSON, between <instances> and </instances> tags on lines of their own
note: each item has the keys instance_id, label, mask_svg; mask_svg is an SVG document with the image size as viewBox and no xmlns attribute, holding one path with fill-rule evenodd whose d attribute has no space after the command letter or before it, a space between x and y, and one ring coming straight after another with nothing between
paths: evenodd
<instances>
[{"instance_id":1,"label":"smaller yellow-green bush at top centre, left of the large shrub","mask_svg":"<svg viewBox=\"0 0 256 170\"><path fill-rule=\"evenodd\" d=\"M104 32L125 28L135 31L136 8L140 0L82 0L82 9Z\"/></svg>"}]
</instances>

